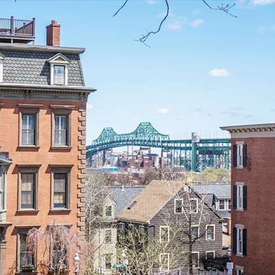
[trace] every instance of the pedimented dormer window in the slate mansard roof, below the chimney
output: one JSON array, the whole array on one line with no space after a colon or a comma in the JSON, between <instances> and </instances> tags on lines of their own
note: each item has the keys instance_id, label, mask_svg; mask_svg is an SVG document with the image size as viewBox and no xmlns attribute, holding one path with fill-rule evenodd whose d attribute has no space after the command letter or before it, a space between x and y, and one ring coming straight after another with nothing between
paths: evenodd
<instances>
[{"instance_id":1,"label":"pedimented dormer window in the slate mansard roof, below the chimney","mask_svg":"<svg viewBox=\"0 0 275 275\"><path fill-rule=\"evenodd\" d=\"M56 54L47 60L50 63L51 85L68 85L68 64L69 58L63 54Z\"/></svg>"}]
</instances>

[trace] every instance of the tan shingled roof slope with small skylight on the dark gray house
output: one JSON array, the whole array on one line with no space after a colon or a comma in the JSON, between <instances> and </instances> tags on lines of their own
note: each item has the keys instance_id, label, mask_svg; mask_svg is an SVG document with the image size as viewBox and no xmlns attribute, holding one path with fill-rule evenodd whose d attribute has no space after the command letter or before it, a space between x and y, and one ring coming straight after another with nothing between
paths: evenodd
<instances>
[{"instance_id":1,"label":"tan shingled roof slope with small skylight on the dark gray house","mask_svg":"<svg viewBox=\"0 0 275 275\"><path fill-rule=\"evenodd\" d=\"M116 215L116 219L148 223L183 186L182 181L153 180L126 204L126 207ZM133 201L137 202L131 210L127 209Z\"/></svg>"}]
</instances>

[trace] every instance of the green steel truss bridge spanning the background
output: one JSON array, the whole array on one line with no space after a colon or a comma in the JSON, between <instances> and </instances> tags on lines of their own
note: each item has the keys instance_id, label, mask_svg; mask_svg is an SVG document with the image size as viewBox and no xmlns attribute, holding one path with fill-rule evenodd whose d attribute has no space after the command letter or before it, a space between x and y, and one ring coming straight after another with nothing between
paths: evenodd
<instances>
[{"instance_id":1,"label":"green steel truss bridge spanning the background","mask_svg":"<svg viewBox=\"0 0 275 275\"><path fill-rule=\"evenodd\" d=\"M150 122L141 122L132 133L117 134L113 128L104 128L100 136L87 146L88 166L92 155L120 146L161 148L162 153L171 153L171 165L197 172L210 166L230 169L230 138L200 139L197 133L192 133L191 140L170 140L169 135L159 133Z\"/></svg>"}]
</instances>

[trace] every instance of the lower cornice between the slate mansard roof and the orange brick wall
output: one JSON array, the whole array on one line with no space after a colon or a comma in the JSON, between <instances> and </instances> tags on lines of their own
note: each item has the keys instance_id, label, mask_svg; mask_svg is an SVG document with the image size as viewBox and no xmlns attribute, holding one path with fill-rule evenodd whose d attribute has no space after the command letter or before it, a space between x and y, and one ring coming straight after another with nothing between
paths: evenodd
<instances>
[{"instance_id":1,"label":"lower cornice between the slate mansard roof and the orange brick wall","mask_svg":"<svg viewBox=\"0 0 275 275\"><path fill-rule=\"evenodd\" d=\"M72 92L72 93L92 93L96 89L82 86L56 86L56 85L25 85L25 84L0 84L1 90L20 91L52 91L52 92Z\"/></svg>"}]
</instances>

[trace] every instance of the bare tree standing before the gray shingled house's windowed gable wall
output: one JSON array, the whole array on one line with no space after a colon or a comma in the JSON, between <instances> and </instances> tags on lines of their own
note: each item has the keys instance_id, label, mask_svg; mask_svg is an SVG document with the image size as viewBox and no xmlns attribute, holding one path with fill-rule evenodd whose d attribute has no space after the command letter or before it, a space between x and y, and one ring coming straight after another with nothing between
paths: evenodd
<instances>
[{"instance_id":1,"label":"bare tree standing before the gray shingled house's windowed gable wall","mask_svg":"<svg viewBox=\"0 0 275 275\"><path fill-rule=\"evenodd\" d=\"M192 179L184 176L182 181L167 181L167 191L175 194L174 197L178 204L178 211L181 215L174 214L169 208L162 209L163 222L169 227L176 243L181 243L187 256L188 274L193 274L192 252L193 248L201 238L206 237L208 225L214 219L214 210L206 202L209 190L205 190L203 195L199 195L192 188ZM169 177L179 179L178 175ZM207 187L206 187L207 188ZM177 209L175 209L177 211Z\"/></svg>"}]
</instances>

